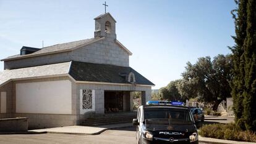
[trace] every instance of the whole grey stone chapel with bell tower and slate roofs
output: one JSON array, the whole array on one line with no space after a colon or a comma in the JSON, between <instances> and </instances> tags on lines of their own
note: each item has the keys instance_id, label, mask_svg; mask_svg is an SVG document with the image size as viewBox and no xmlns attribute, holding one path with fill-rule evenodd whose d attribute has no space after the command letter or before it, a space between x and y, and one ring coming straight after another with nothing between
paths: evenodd
<instances>
[{"instance_id":1,"label":"whole grey stone chapel with bell tower and slate roofs","mask_svg":"<svg viewBox=\"0 0 256 144\"><path fill-rule=\"evenodd\" d=\"M78 125L87 113L131 111L132 91L151 100L152 82L129 66L132 52L116 39L116 20L95 18L91 39L2 59L0 118L27 117L30 128Z\"/></svg>"}]
</instances>

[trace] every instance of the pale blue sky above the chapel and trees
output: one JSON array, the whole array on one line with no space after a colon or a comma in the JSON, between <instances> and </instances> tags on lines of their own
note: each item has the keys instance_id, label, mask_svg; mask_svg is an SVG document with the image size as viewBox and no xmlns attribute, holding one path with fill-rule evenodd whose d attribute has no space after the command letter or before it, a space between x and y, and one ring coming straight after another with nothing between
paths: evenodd
<instances>
[{"instance_id":1,"label":"pale blue sky above the chapel and trees","mask_svg":"<svg viewBox=\"0 0 256 144\"><path fill-rule=\"evenodd\" d=\"M0 0L0 59L22 46L51 46L93 38L93 18L105 1ZM130 66L158 89L181 78L187 62L231 53L233 0L106 1L116 19L117 39L133 55ZM0 63L0 70L4 68Z\"/></svg>"}]
</instances>

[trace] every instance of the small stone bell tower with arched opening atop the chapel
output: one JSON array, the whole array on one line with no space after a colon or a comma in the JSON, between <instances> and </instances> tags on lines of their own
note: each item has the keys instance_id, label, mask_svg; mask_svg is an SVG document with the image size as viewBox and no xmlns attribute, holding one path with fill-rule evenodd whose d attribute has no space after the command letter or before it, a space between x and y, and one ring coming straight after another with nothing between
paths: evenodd
<instances>
[{"instance_id":1,"label":"small stone bell tower with arched opening atop the chapel","mask_svg":"<svg viewBox=\"0 0 256 144\"><path fill-rule=\"evenodd\" d=\"M95 32L94 38L111 38L116 39L116 20L111 14L106 13L94 18Z\"/></svg>"}]
</instances>

